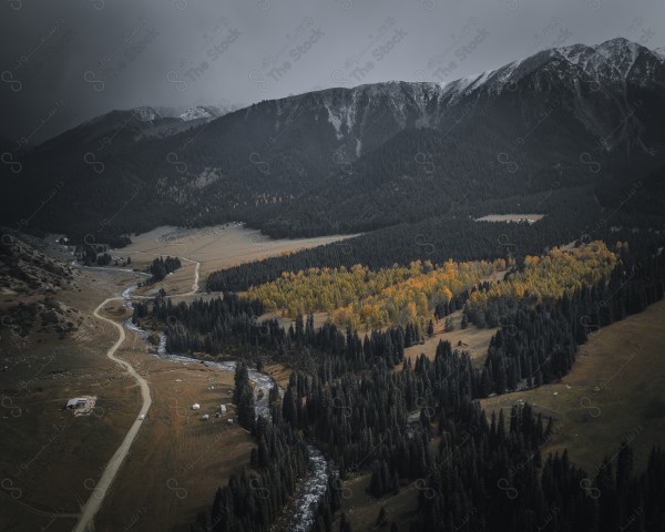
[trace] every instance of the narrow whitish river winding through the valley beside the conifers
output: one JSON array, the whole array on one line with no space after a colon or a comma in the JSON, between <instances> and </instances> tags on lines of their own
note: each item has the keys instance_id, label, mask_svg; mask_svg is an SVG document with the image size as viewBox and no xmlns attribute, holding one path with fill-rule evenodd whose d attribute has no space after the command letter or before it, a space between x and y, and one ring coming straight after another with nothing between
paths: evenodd
<instances>
[{"instance_id":1,"label":"narrow whitish river winding through the valley beside the conifers","mask_svg":"<svg viewBox=\"0 0 665 532\"><path fill-rule=\"evenodd\" d=\"M147 296L134 296L133 293L137 288L137 285L127 287L122 293L123 305L129 309L133 310L132 297L141 297L144 299L152 299ZM127 318L124 321L126 329L139 334L147 341L149 332L141 327L137 327L132 323L132 318ZM160 332L160 344L157 346L157 356L163 360L171 360L178 364L202 364L202 360L196 358L187 357L184 355L175 355L166 352L166 336ZM219 369L221 371L235 372L236 362L216 362L205 361L205 365L211 368ZM256 416L269 417L268 408L268 396L269 390L275 386L275 381L269 375L257 371L255 369L248 370L249 380L254 382L254 400L256 408ZM279 395L284 397L284 388L279 387ZM314 524L315 511L318 501L326 493L328 484L328 477L330 475L330 468L328 461L324 457L324 453L314 444L307 444L307 453L309 458L309 467L311 469L310 477L305 480L297 489L295 493L295 504L293 505L293 515L289 518L289 531L295 532L308 532Z\"/></svg>"}]
</instances>

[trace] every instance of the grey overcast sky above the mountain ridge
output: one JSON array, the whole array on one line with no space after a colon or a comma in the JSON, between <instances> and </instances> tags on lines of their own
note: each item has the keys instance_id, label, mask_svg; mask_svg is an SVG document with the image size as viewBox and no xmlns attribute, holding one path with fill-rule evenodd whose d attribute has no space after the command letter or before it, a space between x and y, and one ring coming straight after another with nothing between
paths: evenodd
<instances>
[{"instance_id":1,"label":"grey overcast sky above the mountain ridge","mask_svg":"<svg viewBox=\"0 0 665 532\"><path fill-rule=\"evenodd\" d=\"M2 126L37 143L136 105L438 81L553 45L665 47L663 0L4 0Z\"/></svg>"}]
</instances>

